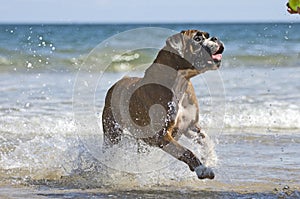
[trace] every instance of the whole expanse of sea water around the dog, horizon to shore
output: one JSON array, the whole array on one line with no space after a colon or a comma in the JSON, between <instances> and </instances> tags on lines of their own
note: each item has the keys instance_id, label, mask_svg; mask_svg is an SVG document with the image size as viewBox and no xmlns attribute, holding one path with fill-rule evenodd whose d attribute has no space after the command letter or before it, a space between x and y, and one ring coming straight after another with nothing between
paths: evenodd
<instances>
[{"instance_id":1,"label":"whole expanse of sea water around the dog, horizon to shore","mask_svg":"<svg viewBox=\"0 0 300 199\"><path fill-rule=\"evenodd\" d=\"M107 89L124 75L142 76L157 50L116 54L104 70L87 68L87 59L97 66L101 42L149 27L205 30L225 44L221 68L192 79L211 143L181 140L204 156L214 180L198 180L130 132L101 151ZM0 196L300 197L299 31L297 23L0 25ZM89 89L93 96L84 96Z\"/></svg>"}]
</instances>

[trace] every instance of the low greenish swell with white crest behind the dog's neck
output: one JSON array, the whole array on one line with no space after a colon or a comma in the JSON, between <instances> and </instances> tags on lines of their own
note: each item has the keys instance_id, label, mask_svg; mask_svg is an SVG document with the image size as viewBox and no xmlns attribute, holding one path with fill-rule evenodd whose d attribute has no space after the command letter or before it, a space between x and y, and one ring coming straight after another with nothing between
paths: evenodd
<instances>
[{"instance_id":1,"label":"low greenish swell with white crest behind the dog's neck","mask_svg":"<svg viewBox=\"0 0 300 199\"><path fill-rule=\"evenodd\" d=\"M131 70L144 70L150 65L156 54L147 53L134 53L134 54L117 54L111 57L111 64L106 67L106 70L110 72L120 72L120 71L131 71ZM89 66L94 67L90 71L98 71L103 69L101 66L101 55L89 57L86 61L87 55L80 57L31 57L20 56L19 58L14 57L9 59L7 57L0 57L0 72L12 72L12 71L76 71L79 68L89 68ZM254 56L254 55L230 55L228 57L224 56L221 67L224 68L236 68L236 67L298 67L300 66L300 59L297 56L288 55L269 55L269 56ZM143 67L140 67L142 66Z\"/></svg>"}]
</instances>

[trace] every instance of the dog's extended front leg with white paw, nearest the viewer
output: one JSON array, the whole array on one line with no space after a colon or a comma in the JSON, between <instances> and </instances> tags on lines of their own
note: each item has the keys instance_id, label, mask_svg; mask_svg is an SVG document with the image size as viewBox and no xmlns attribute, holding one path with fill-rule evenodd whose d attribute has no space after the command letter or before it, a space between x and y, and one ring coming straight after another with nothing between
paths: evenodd
<instances>
[{"instance_id":1,"label":"dog's extended front leg with white paw, nearest the viewer","mask_svg":"<svg viewBox=\"0 0 300 199\"><path fill-rule=\"evenodd\" d=\"M162 146L162 149L177 158L178 160L186 163L191 171L195 171L199 179L213 179L215 177L211 168L204 166L199 158L193 152L179 144L172 136L172 131L169 129L164 136L164 140L168 143Z\"/></svg>"}]
</instances>

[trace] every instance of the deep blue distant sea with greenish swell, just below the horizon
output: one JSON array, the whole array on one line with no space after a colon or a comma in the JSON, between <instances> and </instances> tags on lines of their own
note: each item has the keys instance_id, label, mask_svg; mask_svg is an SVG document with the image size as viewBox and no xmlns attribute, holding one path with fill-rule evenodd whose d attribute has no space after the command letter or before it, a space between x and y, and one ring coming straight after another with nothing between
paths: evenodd
<instances>
[{"instance_id":1,"label":"deep blue distant sea with greenish swell, just below the horizon","mask_svg":"<svg viewBox=\"0 0 300 199\"><path fill-rule=\"evenodd\" d=\"M97 45L120 31L148 27L146 24L124 25L1 25L0 37L4 38L0 47L0 71L40 71L40 70L78 70L85 58L91 64L97 64L102 54L93 53ZM300 65L299 24L161 24L159 27L171 28L180 32L182 29L207 29L217 34L225 43L223 56L224 67L265 66L265 67L295 67ZM232 30L237 30L232 37ZM145 46L154 41L165 44L168 35L162 34L158 28L145 40L144 35L134 39L144 42ZM116 51L132 45L126 38L115 41ZM92 52L92 54L90 54ZM137 54L139 56L137 56ZM157 53L157 50L156 50ZM131 70L142 63L154 60L153 52L130 52L129 54L108 55L113 62L112 72ZM146 61L145 61L146 59Z\"/></svg>"}]
</instances>

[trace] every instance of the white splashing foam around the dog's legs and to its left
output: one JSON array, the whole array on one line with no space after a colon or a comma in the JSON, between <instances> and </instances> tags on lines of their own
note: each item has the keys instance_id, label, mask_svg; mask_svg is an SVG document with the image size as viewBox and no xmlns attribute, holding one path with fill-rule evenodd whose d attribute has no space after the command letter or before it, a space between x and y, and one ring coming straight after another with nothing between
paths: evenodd
<instances>
[{"instance_id":1,"label":"white splashing foam around the dog's legs and to its left","mask_svg":"<svg viewBox=\"0 0 300 199\"><path fill-rule=\"evenodd\" d=\"M94 186L109 182L122 184L128 180L135 181L135 185L153 185L158 181L170 183L172 179L197 179L196 174L191 172L186 164L159 148L142 146L142 152L137 153L137 142L132 139L123 139L120 145L106 152L99 151L96 145L87 149L78 139L75 133L77 127L70 117L44 116L22 121L16 117L1 119L1 123L5 122L6 125L0 125L0 131L7 132L8 136L4 137L5 139L0 137L0 141L12 149L0 154L0 174L10 171L14 173L14 177L26 181L59 180L62 176L71 179L78 172L84 178L85 174L92 173L98 181L85 183L94 183ZM103 136L98 133L83 132L82 136L89 136L90 139L85 141L91 140L93 143L94 136ZM201 155L204 163L214 164L216 155L211 143L200 146L185 139L183 137L180 141L187 144L197 155ZM97 152L103 156L99 158L91 155ZM89 180L90 178L91 176Z\"/></svg>"}]
</instances>

